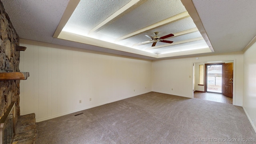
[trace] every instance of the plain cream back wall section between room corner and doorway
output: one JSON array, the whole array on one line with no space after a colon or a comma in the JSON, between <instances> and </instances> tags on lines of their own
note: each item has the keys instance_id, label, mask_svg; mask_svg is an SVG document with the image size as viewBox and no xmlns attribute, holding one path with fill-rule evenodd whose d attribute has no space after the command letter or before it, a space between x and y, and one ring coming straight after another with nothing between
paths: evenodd
<instances>
[{"instance_id":1,"label":"plain cream back wall section between room corner and doorway","mask_svg":"<svg viewBox=\"0 0 256 144\"><path fill-rule=\"evenodd\" d=\"M188 58L152 62L152 91L192 98L193 63Z\"/></svg>"}]
</instances>

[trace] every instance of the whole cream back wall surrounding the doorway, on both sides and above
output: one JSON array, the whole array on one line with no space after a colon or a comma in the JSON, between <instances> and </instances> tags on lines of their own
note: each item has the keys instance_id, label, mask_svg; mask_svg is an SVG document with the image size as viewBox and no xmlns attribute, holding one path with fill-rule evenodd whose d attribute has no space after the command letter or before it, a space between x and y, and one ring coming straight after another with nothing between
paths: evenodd
<instances>
[{"instance_id":1,"label":"whole cream back wall surrounding the doorway, on both sides and above","mask_svg":"<svg viewBox=\"0 0 256 144\"><path fill-rule=\"evenodd\" d=\"M243 53L233 52L196 58L152 62L152 91L193 98L193 63L234 61L233 104L243 104ZM173 88L173 90L172 90Z\"/></svg>"}]
</instances>

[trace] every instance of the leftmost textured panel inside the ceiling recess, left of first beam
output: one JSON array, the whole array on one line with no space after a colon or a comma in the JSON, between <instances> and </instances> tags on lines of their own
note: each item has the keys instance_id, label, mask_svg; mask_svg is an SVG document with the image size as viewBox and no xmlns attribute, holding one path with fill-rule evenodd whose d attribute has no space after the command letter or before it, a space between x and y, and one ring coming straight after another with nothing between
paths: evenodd
<instances>
[{"instance_id":1,"label":"leftmost textured panel inside the ceiling recess, left of first beam","mask_svg":"<svg viewBox=\"0 0 256 144\"><path fill-rule=\"evenodd\" d=\"M87 35L92 28L128 2L130 0L81 0L63 30Z\"/></svg>"}]
</instances>

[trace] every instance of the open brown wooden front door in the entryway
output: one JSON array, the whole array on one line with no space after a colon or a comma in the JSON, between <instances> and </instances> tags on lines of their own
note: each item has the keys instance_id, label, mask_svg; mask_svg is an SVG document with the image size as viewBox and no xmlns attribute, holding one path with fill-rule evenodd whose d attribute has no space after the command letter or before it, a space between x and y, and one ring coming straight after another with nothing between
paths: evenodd
<instances>
[{"instance_id":1,"label":"open brown wooden front door in the entryway","mask_svg":"<svg viewBox=\"0 0 256 144\"><path fill-rule=\"evenodd\" d=\"M233 98L233 62L222 65L222 94Z\"/></svg>"}]
</instances>

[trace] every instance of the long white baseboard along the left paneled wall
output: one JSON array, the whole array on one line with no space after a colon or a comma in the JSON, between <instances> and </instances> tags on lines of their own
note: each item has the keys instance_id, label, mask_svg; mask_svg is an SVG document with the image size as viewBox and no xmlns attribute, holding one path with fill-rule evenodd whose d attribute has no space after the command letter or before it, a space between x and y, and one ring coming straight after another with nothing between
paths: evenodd
<instances>
[{"instance_id":1,"label":"long white baseboard along the left paneled wall","mask_svg":"<svg viewBox=\"0 0 256 144\"><path fill-rule=\"evenodd\" d=\"M148 91L148 92L151 92L151 91ZM135 95L132 95L132 96L127 96L127 97L124 97L124 98L118 98L118 99L116 99L116 100L110 100L110 101L108 101L108 102L103 102L103 103L100 103L100 104L95 104L95 105L93 105L93 106L87 106L87 107L80 108L80 109L77 109L77 110L72 110L72 111L69 111L69 112L64 112L64 113L62 113L62 114L57 114L57 115L54 115L54 116L49 116L49 117L46 117L46 118L41 118L41 119L36 120L36 122L42 122L42 121L44 121L44 120L50 120L50 119L52 119L52 118L57 118L57 117L60 117L60 116L65 116L65 115L67 115L67 114L72 114L72 113L74 113L74 112L79 112L79 111L86 110L86 109L89 109L89 108L94 108L94 107L96 107L96 106L101 106L101 105L104 105L104 104L109 104L109 103L111 103L111 102L116 102L116 101L118 101L118 100L124 100L124 99L126 99L126 98L131 98L131 97L134 97L134 96L138 96L138 95L140 95L140 94L146 94L146 93L148 93L148 92L142 92L142 93L135 94Z\"/></svg>"}]
</instances>

